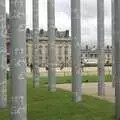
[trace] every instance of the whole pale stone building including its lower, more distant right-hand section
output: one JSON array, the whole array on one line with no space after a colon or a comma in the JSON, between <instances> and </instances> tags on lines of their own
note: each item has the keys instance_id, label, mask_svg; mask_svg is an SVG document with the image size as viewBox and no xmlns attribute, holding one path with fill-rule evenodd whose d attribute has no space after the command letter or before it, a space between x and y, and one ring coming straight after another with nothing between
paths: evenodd
<instances>
[{"instance_id":1,"label":"whole pale stone building including its lower, more distant right-hand section","mask_svg":"<svg viewBox=\"0 0 120 120\"><path fill-rule=\"evenodd\" d=\"M69 31L56 31L56 65L64 65L64 67L71 66L71 38L69 36ZM32 32L27 29L26 30L26 42L27 42L27 63L30 65L32 63ZM82 48L81 58L84 61L89 60L97 61L97 49L95 47ZM112 48L107 46L105 47L105 64L112 63L111 56ZM41 67L45 67L48 64L48 36L47 31L43 29L40 30L39 34L39 65ZM97 64L97 62L95 62Z\"/></svg>"}]
</instances>

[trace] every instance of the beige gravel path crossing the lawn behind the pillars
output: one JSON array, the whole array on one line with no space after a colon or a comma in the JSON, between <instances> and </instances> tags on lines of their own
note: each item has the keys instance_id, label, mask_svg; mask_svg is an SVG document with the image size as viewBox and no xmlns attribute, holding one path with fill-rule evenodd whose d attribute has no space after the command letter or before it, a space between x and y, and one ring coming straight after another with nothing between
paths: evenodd
<instances>
[{"instance_id":1,"label":"beige gravel path crossing the lawn behind the pillars","mask_svg":"<svg viewBox=\"0 0 120 120\"><path fill-rule=\"evenodd\" d=\"M71 91L71 84L57 84L57 88ZM105 83L105 96L97 96L97 83L83 83L83 94L94 96L100 99L107 100L109 102L115 102L115 89L112 88L111 83Z\"/></svg>"}]
</instances>

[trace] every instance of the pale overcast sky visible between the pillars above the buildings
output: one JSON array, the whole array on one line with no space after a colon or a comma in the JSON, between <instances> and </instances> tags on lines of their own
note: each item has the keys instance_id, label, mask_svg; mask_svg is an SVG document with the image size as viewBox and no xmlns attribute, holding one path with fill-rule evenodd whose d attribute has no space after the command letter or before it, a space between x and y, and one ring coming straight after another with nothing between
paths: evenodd
<instances>
[{"instance_id":1,"label":"pale overcast sky visible between the pillars above the buildings","mask_svg":"<svg viewBox=\"0 0 120 120\"><path fill-rule=\"evenodd\" d=\"M7 12L9 0L6 0ZM97 42L97 0L81 0L82 43ZM56 27L71 30L70 0L55 0ZM32 29L32 0L26 0L26 24ZM47 0L39 0L39 28L47 29ZM111 0L105 0L105 44L111 44Z\"/></svg>"}]
</instances>

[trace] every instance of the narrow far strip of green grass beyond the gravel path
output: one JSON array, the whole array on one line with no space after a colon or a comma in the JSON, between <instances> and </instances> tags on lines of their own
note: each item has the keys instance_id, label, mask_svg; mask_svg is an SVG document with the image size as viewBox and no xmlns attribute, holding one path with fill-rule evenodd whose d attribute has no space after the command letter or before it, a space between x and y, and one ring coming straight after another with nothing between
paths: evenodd
<instances>
[{"instance_id":1,"label":"narrow far strip of green grass beyond the gravel path","mask_svg":"<svg viewBox=\"0 0 120 120\"><path fill-rule=\"evenodd\" d=\"M29 78L31 80L31 78ZM65 83L71 83L72 78L71 76L59 76L56 78L57 84L65 84ZM98 76L96 75L84 75L82 76L83 83L90 83L90 82L97 82ZM111 75L105 75L105 82L111 82ZM48 79L47 77L41 77L41 83L47 84Z\"/></svg>"}]
</instances>

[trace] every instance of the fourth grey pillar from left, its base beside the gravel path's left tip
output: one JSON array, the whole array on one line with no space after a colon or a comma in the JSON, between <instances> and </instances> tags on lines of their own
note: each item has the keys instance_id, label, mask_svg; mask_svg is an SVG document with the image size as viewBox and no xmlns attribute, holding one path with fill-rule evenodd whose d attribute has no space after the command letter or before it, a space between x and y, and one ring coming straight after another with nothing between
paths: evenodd
<instances>
[{"instance_id":1,"label":"fourth grey pillar from left, its base beside the gravel path's left tip","mask_svg":"<svg viewBox=\"0 0 120 120\"><path fill-rule=\"evenodd\" d=\"M48 11L48 89L56 91L55 1L47 0Z\"/></svg>"}]
</instances>

